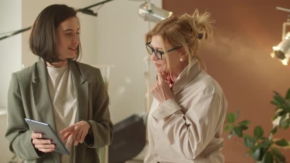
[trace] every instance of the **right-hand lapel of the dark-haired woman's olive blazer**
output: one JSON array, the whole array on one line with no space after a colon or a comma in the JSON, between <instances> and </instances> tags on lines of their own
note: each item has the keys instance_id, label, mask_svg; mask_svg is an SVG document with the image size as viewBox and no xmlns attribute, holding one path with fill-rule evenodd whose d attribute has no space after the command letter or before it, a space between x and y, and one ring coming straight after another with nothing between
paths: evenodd
<instances>
[{"instance_id":1,"label":"right-hand lapel of the dark-haired woman's olive blazer","mask_svg":"<svg viewBox=\"0 0 290 163\"><path fill-rule=\"evenodd\" d=\"M82 77L76 61L68 61L73 85L77 97L77 117L76 120L88 118L88 82Z\"/></svg>"}]
</instances>

